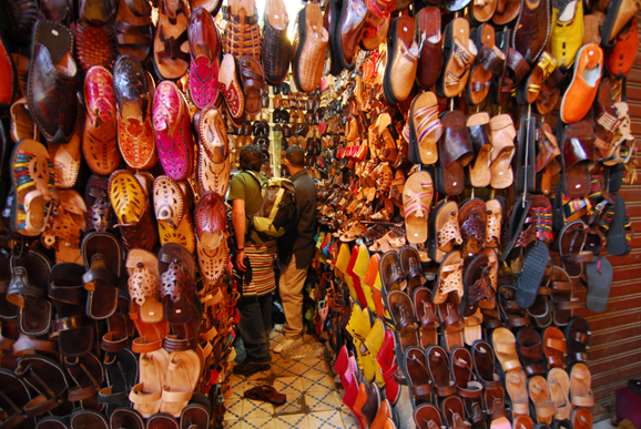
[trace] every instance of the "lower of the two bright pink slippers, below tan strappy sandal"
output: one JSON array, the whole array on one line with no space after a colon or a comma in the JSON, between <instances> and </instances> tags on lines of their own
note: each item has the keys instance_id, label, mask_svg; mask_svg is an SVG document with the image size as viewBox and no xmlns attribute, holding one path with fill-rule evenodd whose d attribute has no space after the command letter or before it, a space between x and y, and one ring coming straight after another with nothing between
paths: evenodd
<instances>
[{"instance_id":1,"label":"lower of the two bright pink slippers, below tan strappy sandal","mask_svg":"<svg viewBox=\"0 0 641 429\"><path fill-rule=\"evenodd\" d=\"M175 181L185 180L194 166L194 141L186 101L175 83L162 81L159 84L153 99L152 124L163 170Z\"/></svg>"}]
</instances>

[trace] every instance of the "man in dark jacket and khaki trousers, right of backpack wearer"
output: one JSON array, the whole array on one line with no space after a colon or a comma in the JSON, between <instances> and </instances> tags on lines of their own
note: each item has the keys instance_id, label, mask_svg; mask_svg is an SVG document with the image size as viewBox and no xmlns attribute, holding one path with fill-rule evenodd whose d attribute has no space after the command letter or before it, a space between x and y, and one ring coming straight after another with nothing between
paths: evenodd
<instances>
[{"instance_id":1,"label":"man in dark jacket and khaki trousers, right of backpack wearer","mask_svg":"<svg viewBox=\"0 0 641 429\"><path fill-rule=\"evenodd\" d=\"M305 152L298 146L287 149L285 165L296 191L297 224L281 237L281 280L278 290L285 310L285 340L274 353L293 350L303 344L303 287L314 258L316 235L316 186L305 168ZM281 245L284 244L284 246Z\"/></svg>"}]
</instances>

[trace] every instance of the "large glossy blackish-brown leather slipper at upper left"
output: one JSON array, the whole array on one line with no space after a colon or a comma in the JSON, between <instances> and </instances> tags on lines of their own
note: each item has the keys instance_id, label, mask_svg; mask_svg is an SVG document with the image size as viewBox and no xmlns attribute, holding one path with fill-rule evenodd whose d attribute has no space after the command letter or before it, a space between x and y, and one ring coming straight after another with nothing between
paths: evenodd
<instances>
[{"instance_id":1,"label":"large glossy blackish-brown leather slipper at upper left","mask_svg":"<svg viewBox=\"0 0 641 429\"><path fill-rule=\"evenodd\" d=\"M80 124L71 31L53 21L39 21L31 59L27 86L31 115L47 141L67 143Z\"/></svg>"}]
</instances>

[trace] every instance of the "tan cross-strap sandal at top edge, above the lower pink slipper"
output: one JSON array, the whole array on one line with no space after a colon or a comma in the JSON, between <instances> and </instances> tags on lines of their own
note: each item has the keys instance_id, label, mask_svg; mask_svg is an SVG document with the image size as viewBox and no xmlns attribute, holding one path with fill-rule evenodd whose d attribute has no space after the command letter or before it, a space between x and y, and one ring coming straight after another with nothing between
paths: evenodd
<instances>
[{"instance_id":1,"label":"tan cross-strap sandal at top edge, above the lower pink slipper","mask_svg":"<svg viewBox=\"0 0 641 429\"><path fill-rule=\"evenodd\" d=\"M187 16L183 0L161 0L153 51L154 67L164 79L179 79L187 71Z\"/></svg>"}]
</instances>

